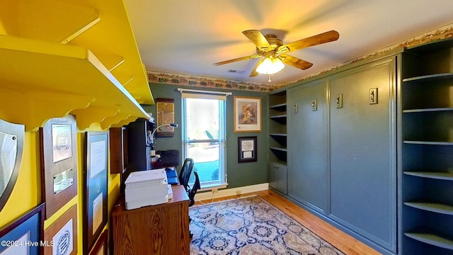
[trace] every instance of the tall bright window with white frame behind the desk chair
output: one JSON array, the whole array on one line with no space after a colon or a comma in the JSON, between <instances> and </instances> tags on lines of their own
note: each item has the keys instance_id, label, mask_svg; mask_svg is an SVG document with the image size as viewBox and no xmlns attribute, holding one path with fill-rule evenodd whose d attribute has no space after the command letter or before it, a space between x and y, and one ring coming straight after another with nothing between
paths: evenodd
<instances>
[{"instance_id":1,"label":"tall bright window with white frame behind the desk chair","mask_svg":"<svg viewBox=\"0 0 453 255\"><path fill-rule=\"evenodd\" d=\"M226 186L226 96L183 93L183 158L192 158L202 189ZM195 181L192 174L189 183Z\"/></svg>"}]
</instances>

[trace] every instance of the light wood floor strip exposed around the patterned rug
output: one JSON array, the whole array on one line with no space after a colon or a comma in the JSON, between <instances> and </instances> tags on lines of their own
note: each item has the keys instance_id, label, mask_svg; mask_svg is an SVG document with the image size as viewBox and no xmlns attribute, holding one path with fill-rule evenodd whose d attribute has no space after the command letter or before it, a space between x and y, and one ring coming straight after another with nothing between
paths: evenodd
<instances>
[{"instance_id":1,"label":"light wood floor strip exposed around the patterned rug","mask_svg":"<svg viewBox=\"0 0 453 255\"><path fill-rule=\"evenodd\" d=\"M348 234L340 231L336 227L328 224L327 222L319 219L315 215L312 215L310 212L300 208L294 203L290 202L286 198L280 196L279 194L273 191L258 191L255 193L246 193L240 196L229 196L224 198L214 198L214 200L203 200L202 203L218 202L221 200L227 200L231 198L239 198L241 196L250 196L256 194L261 198L267 200L269 203L273 204L276 208L279 208L282 212L285 212L287 215L292 217L294 220L297 220L304 227L310 229L312 232L317 234L322 239L326 240L328 243L336 246L337 249L343 251L347 255L377 255L379 252L370 248L369 246L363 244L357 239L351 237ZM200 204L196 202L195 204Z\"/></svg>"}]
</instances>

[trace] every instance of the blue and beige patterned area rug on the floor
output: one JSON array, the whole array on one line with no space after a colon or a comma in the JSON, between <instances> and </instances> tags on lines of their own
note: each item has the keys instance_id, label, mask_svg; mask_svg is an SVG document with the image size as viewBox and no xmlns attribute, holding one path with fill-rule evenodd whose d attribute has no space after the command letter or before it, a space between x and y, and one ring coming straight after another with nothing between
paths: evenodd
<instances>
[{"instance_id":1,"label":"blue and beige patterned area rug on the floor","mask_svg":"<svg viewBox=\"0 0 453 255\"><path fill-rule=\"evenodd\" d=\"M190 254L343 254L259 196L189 208Z\"/></svg>"}]
</instances>

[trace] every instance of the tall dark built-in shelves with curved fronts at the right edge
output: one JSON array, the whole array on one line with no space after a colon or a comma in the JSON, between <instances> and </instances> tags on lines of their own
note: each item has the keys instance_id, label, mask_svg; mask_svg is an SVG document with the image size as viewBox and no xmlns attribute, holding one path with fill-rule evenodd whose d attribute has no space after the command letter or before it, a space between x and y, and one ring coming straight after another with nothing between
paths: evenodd
<instances>
[{"instance_id":1,"label":"tall dark built-in shelves with curved fronts at the right edge","mask_svg":"<svg viewBox=\"0 0 453 255\"><path fill-rule=\"evenodd\" d=\"M401 254L453 252L453 40L405 51Z\"/></svg>"}]
</instances>

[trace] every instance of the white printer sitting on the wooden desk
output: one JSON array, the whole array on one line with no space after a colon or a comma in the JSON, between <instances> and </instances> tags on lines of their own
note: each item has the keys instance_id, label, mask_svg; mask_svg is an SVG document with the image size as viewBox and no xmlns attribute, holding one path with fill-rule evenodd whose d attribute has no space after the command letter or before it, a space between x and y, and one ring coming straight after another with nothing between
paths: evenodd
<instances>
[{"instance_id":1,"label":"white printer sitting on the wooden desk","mask_svg":"<svg viewBox=\"0 0 453 255\"><path fill-rule=\"evenodd\" d=\"M134 171L125 181L126 210L168 202L165 169Z\"/></svg>"}]
</instances>

